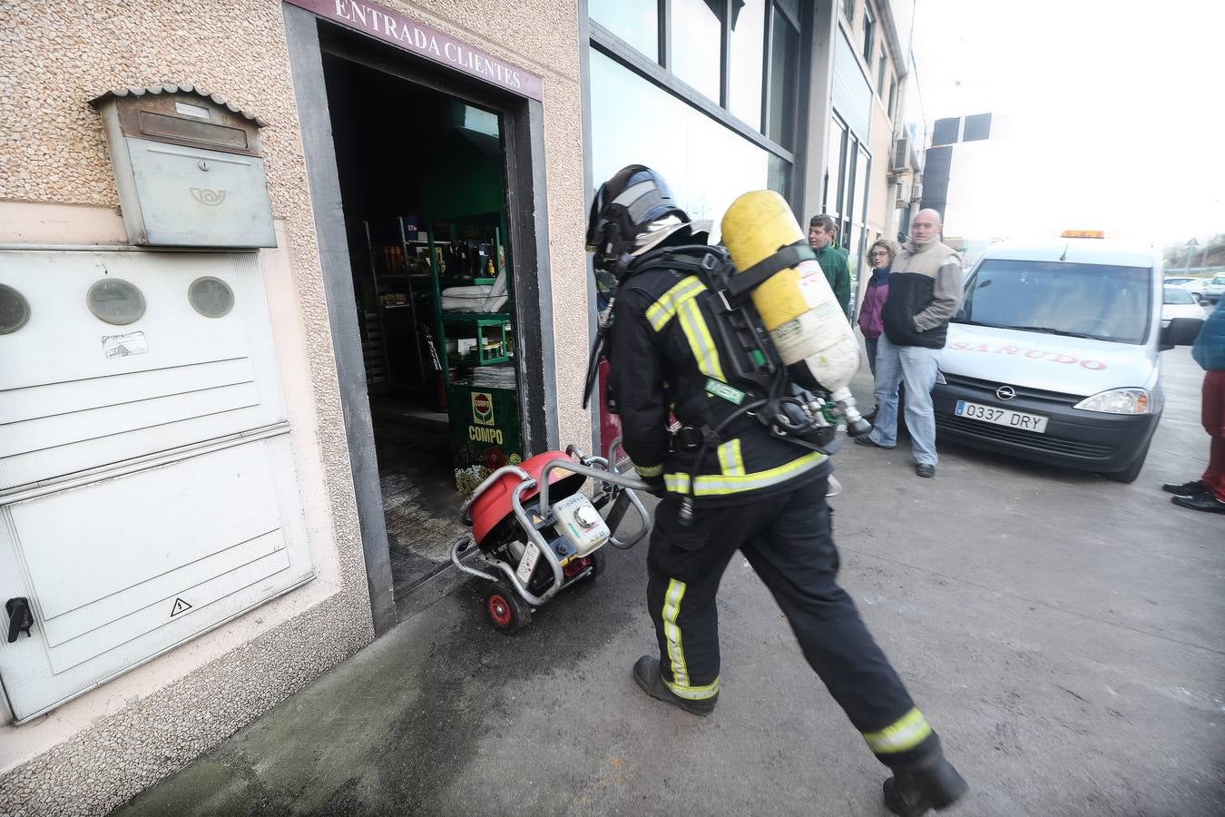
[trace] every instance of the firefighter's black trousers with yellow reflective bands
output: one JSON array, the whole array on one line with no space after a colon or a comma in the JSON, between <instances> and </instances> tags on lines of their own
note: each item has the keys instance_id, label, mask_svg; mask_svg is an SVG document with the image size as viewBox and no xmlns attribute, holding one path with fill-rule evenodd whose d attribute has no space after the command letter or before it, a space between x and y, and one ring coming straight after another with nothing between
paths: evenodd
<instances>
[{"instance_id":1,"label":"firefighter's black trousers with yellow reflective bands","mask_svg":"<svg viewBox=\"0 0 1225 817\"><path fill-rule=\"evenodd\" d=\"M740 550L869 747L884 764L905 768L938 752L938 739L834 581L838 550L826 485L820 479L748 505L699 507L690 528L677 522L675 503L659 503L647 556L647 604L659 639L660 671L679 697L718 695L714 599L728 562ZM761 680L751 668L739 669L736 676L746 685Z\"/></svg>"}]
</instances>

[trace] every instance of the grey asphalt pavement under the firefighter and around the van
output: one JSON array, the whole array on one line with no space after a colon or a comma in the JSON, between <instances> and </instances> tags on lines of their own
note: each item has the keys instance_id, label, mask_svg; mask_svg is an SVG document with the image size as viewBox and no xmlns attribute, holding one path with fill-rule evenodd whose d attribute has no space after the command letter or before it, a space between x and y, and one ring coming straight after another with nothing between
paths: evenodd
<instances>
[{"instance_id":1,"label":"grey asphalt pavement under the firefighter and around the van","mask_svg":"<svg viewBox=\"0 0 1225 817\"><path fill-rule=\"evenodd\" d=\"M943 813L1225 813L1225 517L1160 491L1208 451L1202 372L1165 365L1133 485L953 446L920 479L905 440L835 458L842 583L973 786ZM886 769L739 556L715 713L643 696L644 555L511 637L467 583L119 813L884 815Z\"/></svg>"}]
</instances>

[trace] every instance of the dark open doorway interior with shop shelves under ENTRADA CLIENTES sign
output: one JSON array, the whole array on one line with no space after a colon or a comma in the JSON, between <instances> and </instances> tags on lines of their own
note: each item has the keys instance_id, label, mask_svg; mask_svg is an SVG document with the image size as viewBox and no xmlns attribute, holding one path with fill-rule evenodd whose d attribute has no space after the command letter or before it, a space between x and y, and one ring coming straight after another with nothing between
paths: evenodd
<instances>
[{"instance_id":1,"label":"dark open doorway interior with shop shelves under ENTRADA CLIENTES sign","mask_svg":"<svg viewBox=\"0 0 1225 817\"><path fill-rule=\"evenodd\" d=\"M397 601L524 456L502 116L323 54Z\"/></svg>"}]
</instances>

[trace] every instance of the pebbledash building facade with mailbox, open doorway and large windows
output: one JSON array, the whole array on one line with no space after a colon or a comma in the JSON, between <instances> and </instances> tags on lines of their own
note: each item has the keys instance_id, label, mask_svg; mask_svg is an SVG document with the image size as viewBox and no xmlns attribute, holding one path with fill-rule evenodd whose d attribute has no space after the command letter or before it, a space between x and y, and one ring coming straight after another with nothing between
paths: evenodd
<instances>
[{"instance_id":1,"label":"pebbledash building facade with mailbox, open doorway and large windows","mask_svg":"<svg viewBox=\"0 0 1225 817\"><path fill-rule=\"evenodd\" d=\"M0 4L0 811L126 801L446 592L472 480L599 445L624 164L894 232L887 9Z\"/></svg>"}]
</instances>

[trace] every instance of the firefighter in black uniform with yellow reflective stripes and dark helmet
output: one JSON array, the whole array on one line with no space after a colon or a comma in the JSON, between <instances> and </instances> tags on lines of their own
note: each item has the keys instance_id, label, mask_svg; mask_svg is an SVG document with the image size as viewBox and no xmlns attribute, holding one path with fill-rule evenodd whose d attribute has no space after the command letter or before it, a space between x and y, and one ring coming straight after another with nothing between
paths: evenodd
<instances>
[{"instance_id":1,"label":"firefighter in black uniform with yellow reflective stripes and dark helmet","mask_svg":"<svg viewBox=\"0 0 1225 817\"><path fill-rule=\"evenodd\" d=\"M740 550L786 615L809 664L892 769L886 806L908 817L944 808L967 784L834 581L828 457L740 410L758 404L761 394L756 383L729 376L744 371L746 352L720 341L729 337L715 325L724 305L695 274L702 266L695 255L718 251L693 246L704 244L699 230L664 179L643 165L624 168L600 186L588 223L597 269L617 280L609 404L621 416L638 475L662 497L647 555L659 653L639 658L633 679L685 712L714 710L715 594ZM785 377L785 367L778 371ZM670 413L680 423L673 431Z\"/></svg>"}]
</instances>

